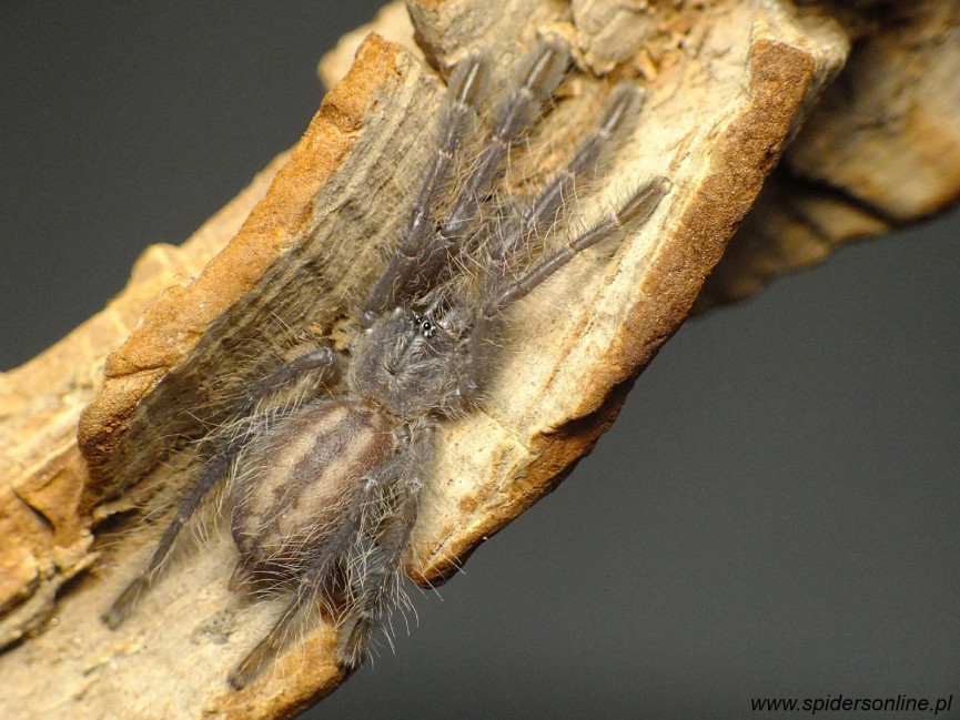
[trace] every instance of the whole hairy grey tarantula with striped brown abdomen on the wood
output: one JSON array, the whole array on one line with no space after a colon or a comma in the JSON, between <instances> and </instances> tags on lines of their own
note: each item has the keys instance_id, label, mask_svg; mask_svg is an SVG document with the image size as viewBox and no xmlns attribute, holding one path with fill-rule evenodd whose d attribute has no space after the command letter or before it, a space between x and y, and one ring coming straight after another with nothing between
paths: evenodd
<instances>
[{"instance_id":1,"label":"whole hairy grey tarantula with striped brown abdomen on the wood","mask_svg":"<svg viewBox=\"0 0 960 720\"><path fill-rule=\"evenodd\" d=\"M517 210L496 192L511 150L544 112L568 64L563 42L542 40L485 118L491 60L475 53L458 63L439 110L433 161L362 308L350 357L313 343L245 387L242 412L205 443L199 477L146 568L104 615L108 626L130 615L181 529L225 481L240 551L231 586L259 584L289 598L231 672L231 686L246 686L279 655L297 618L316 607L336 621L344 669L370 653L405 598L403 560L437 424L482 402L505 311L585 249L626 223L645 222L669 190L655 178L582 232L548 242L563 235L575 183L596 173L605 146L639 109L640 93L620 84L593 132L533 201ZM468 144L475 135L478 144Z\"/></svg>"}]
</instances>

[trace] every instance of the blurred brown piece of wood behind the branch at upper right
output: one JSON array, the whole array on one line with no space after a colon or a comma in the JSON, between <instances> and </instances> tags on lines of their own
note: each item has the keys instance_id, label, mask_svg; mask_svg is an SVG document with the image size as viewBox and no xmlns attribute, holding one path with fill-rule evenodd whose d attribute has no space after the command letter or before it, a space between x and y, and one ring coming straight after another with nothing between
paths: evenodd
<instances>
[{"instance_id":1,"label":"blurred brown piece of wood behind the branch at upper right","mask_svg":"<svg viewBox=\"0 0 960 720\"><path fill-rule=\"evenodd\" d=\"M730 241L697 311L960 200L960 2L839 13L855 48Z\"/></svg>"}]
</instances>

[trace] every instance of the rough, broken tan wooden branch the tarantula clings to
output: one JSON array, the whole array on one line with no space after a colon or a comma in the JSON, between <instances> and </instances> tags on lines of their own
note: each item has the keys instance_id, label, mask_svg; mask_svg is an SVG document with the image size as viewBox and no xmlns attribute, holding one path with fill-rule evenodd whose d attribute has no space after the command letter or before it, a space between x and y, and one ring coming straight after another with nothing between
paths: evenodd
<instances>
[{"instance_id":1,"label":"rough, broken tan wooden branch the tarantula clings to","mask_svg":"<svg viewBox=\"0 0 960 720\"><path fill-rule=\"evenodd\" d=\"M626 239L612 263L585 262L530 298L536 311L517 318L514 335L525 357L506 357L487 412L444 429L410 566L421 582L435 582L554 487L608 427L631 379L686 316L784 143L839 70L849 38L883 37L852 16L841 17L841 31L823 9L797 14L776 2L761 10L729 2L634 13L586 0L573 8L448 0L413 3L412 13L422 54L367 39L290 154L183 246L149 250L104 313L0 376L8 410L0 437L9 448L0 458L0 642L11 647L0 659L4 717L283 718L343 679L332 661L332 631L321 627L244 692L226 688L228 670L262 635L271 608L240 616L229 633L212 630L231 606L226 578L235 550L222 535L184 559L120 631L108 631L99 616L162 527L128 511L175 494L191 477L190 457L172 455L170 438L201 430L192 410L218 402L206 378L235 369L238 348L246 357L270 352L264 328L351 332L344 313L375 275L378 250L403 220L394 206L404 206L423 164L422 129L441 81L420 57L447 70L485 45L508 64L537 31L560 32L579 52L568 97L547 121L554 132L576 128L606 75L643 77L649 93L598 202L609 203L630 178L664 173L675 184L653 223ZM400 17L393 6L381 22L392 18L390 36L412 48L413 26ZM927 21L918 16L918 24ZM625 40L604 34L608 27L624 28ZM939 55L929 53L939 71ZM334 65L326 61L324 73L336 72ZM893 179L889 193L867 195L857 184L862 175L841 172L848 162L818 165L802 150L836 133L845 112L814 111L789 169L808 184L842 189L833 196L857 197L840 203L842 212L811 216L869 232L883 226L877 216L895 214L885 204L890 196L902 200ZM956 149L957 135L943 128L942 142ZM869 138L861 144L875 146ZM838 152L846 148L837 144ZM912 162L921 160L914 153ZM896 216L956 199L953 180L934 178ZM865 205L866 220L851 221L849 209ZM787 262L764 265L764 280L804 253L781 254ZM741 257L729 276L756 275L750 252ZM173 275L196 278L151 300ZM730 285L715 296L736 296ZM88 403L80 439L89 469L74 442ZM58 622L46 625L54 601Z\"/></svg>"}]
</instances>

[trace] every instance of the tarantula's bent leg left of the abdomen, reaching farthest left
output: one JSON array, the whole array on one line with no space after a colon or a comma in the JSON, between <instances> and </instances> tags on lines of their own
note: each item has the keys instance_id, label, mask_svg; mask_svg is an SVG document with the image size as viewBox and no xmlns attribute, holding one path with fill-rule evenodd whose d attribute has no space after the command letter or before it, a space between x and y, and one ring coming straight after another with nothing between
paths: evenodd
<instances>
[{"instance_id":1,"label":"tarantula's bent leg left of the abdomen, reaching farthest left","mask_svg":"<svg viewBox=\"0 0 960 720\"><path fill-rule=\"evenodd\" d=\"M309 374L316 374L319 381L334 382L341 375L340 356L330 347L321 346L311 349L283 367L271 373L266 377L253 383L244 393L243 412L253 409L261 400L270 397L273 393L287 387ZM254 415L250 423L242 426L241 432L234 433L214 445L213 454L205 462L200 476L194 480L185 497L180 501L176 514L160 538L160 542L150 555L146 568L124 588L110 609L103 615L103 623L111 630L115 630L130 616L140 597L160 578L166 559L173 549L180 531L193 517L203 499L213 490L220 480L230 470L245 439L252 433L257 432L263 414Z\"/></svg>"}]
</instances>

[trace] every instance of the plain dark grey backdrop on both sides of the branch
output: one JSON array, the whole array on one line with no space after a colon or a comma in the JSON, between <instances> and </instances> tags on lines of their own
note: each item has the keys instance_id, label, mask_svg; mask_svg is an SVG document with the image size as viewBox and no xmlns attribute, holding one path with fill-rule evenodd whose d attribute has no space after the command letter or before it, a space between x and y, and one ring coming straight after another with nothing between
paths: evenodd
<instances>
[{"instance_id":1,"label":"plain dark grey backdrop on both sides of the branch","mask_svg":"<svg viewBox=\"0 0 960 720\"><path fill-rule=\"evenodd\" d=\"M317 58L375 7L0 3L0 368L291 145ZM573 476L309 717L952 692L960 718L958 231L852 246L688 323Z\"/></svg>"}]
</instances>

